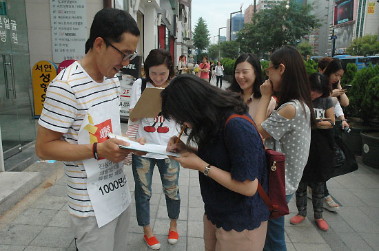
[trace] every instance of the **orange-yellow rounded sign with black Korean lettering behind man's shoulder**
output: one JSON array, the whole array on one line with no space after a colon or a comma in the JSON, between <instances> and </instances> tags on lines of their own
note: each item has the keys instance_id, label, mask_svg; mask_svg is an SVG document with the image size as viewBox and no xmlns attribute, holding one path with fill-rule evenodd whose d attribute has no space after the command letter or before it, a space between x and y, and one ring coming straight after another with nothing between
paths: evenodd
<instances>
[{"instance_id":1,"label":"orange-yellow rounded sign with black Korean lettering behind man's shoulder","mask_svg":"<svg viewBox=\"0 0 379 251\"><path fill-rule=\"evenodd\" d=\"M46 89L51 80L57 76L57 68L49 61L39 61L33 66L33 96L34 96L34 116L41 116L43 102L46 97Z\"/></svg>"}]
</instances>

